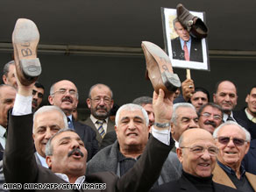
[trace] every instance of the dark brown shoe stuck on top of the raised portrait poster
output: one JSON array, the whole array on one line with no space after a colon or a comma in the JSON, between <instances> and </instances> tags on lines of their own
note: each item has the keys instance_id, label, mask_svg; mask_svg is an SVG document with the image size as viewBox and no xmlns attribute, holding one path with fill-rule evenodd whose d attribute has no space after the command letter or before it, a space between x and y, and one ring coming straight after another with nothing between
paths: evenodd
<instances>
[{"instance_id":1,"label":"dark brown shoe stuck on top of the raised portrait poster","mask_svg":"<svg viewBox=\"0 0 256 192\"><path fill-rule=\"evenodd\" d=\"M192 15L182 4L177 5L176 11L179 22L188 32L198 39L207 37L208 28L201 18Z\"/></svg>"}]
</instances>

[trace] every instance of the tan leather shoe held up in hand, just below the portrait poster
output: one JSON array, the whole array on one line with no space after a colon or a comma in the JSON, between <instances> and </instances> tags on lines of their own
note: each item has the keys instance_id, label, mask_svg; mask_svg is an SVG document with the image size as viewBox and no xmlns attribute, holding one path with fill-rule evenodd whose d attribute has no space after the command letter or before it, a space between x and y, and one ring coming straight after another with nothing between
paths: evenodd
<instances>
[{"instance_id":1,"label":"tan leather shoe held up in hand, just below the portrait poster","mask_svg":"<svg viewBox=\"0 0 256 192\"><path fill-rule=\"evenodd\" d=\"M181 87L180 79L174 74L167 53L148 41L142 41L141 47L146 57L146 78L152 82L153 89L157 93L159 89L163 89L167 96Z\"/></svg>"}]
</instances>

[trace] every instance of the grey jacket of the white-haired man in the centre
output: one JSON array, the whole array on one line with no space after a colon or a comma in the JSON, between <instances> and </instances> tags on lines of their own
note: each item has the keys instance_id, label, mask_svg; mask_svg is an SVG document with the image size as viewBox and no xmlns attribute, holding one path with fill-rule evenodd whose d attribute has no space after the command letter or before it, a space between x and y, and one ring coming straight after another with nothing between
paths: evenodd
<instances>
[{"instance_id":1,"label":"grey jacket of the white-haired man in the centre","mask_svg":"<svg viewBox=\"0 0 256 192\"><path fill-rule=\"evenodd\" d=\"M113 145L105 147L103 150L89 160L87 164L87 173L97 173L103 171L111 171L120 176L118 166L119 144L116 141ZM175 181L181 177L181 163L175 153L170 152L165 161L158 184L163 184L168 181Z\"/></svg>"}]
</instances>

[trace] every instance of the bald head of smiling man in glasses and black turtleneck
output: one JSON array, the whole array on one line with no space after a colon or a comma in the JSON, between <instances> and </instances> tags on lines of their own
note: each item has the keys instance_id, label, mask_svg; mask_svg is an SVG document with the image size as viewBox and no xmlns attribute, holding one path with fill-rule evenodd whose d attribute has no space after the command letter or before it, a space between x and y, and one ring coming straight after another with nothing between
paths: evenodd
<instances>
[{"instance_id":1,"label":"bald head of smiling man in glasses and black turtleneck","mask_svg":"<svg viewBox=\"0 0 256 192\"><path fill-rule=\"evenodd\" d=\"M217 146L210 132L195 128L182 133L177 155L184 172L197 177L208 177L217 160Z\"/></svg>"}]
</instances>

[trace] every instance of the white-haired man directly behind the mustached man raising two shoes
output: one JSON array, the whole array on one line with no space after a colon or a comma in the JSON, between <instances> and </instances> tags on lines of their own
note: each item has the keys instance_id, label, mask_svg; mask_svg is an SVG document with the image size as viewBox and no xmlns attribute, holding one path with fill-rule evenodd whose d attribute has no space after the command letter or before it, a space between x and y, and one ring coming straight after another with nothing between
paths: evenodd
<instances>
[{"instance_id":1,"label":"white-haired man directly behind the mustached man raising two shoes","mask_svg":"<svg viewBox=\"0 0 256 192\"><path fill-rule=\"evenodd\" d=\"M35 158L39 165L48 167L46 143L56 132L67 127L67 117L57 106L43 106L34 113L32 137L36 148Z\"/></svg>"}]
</instances>

